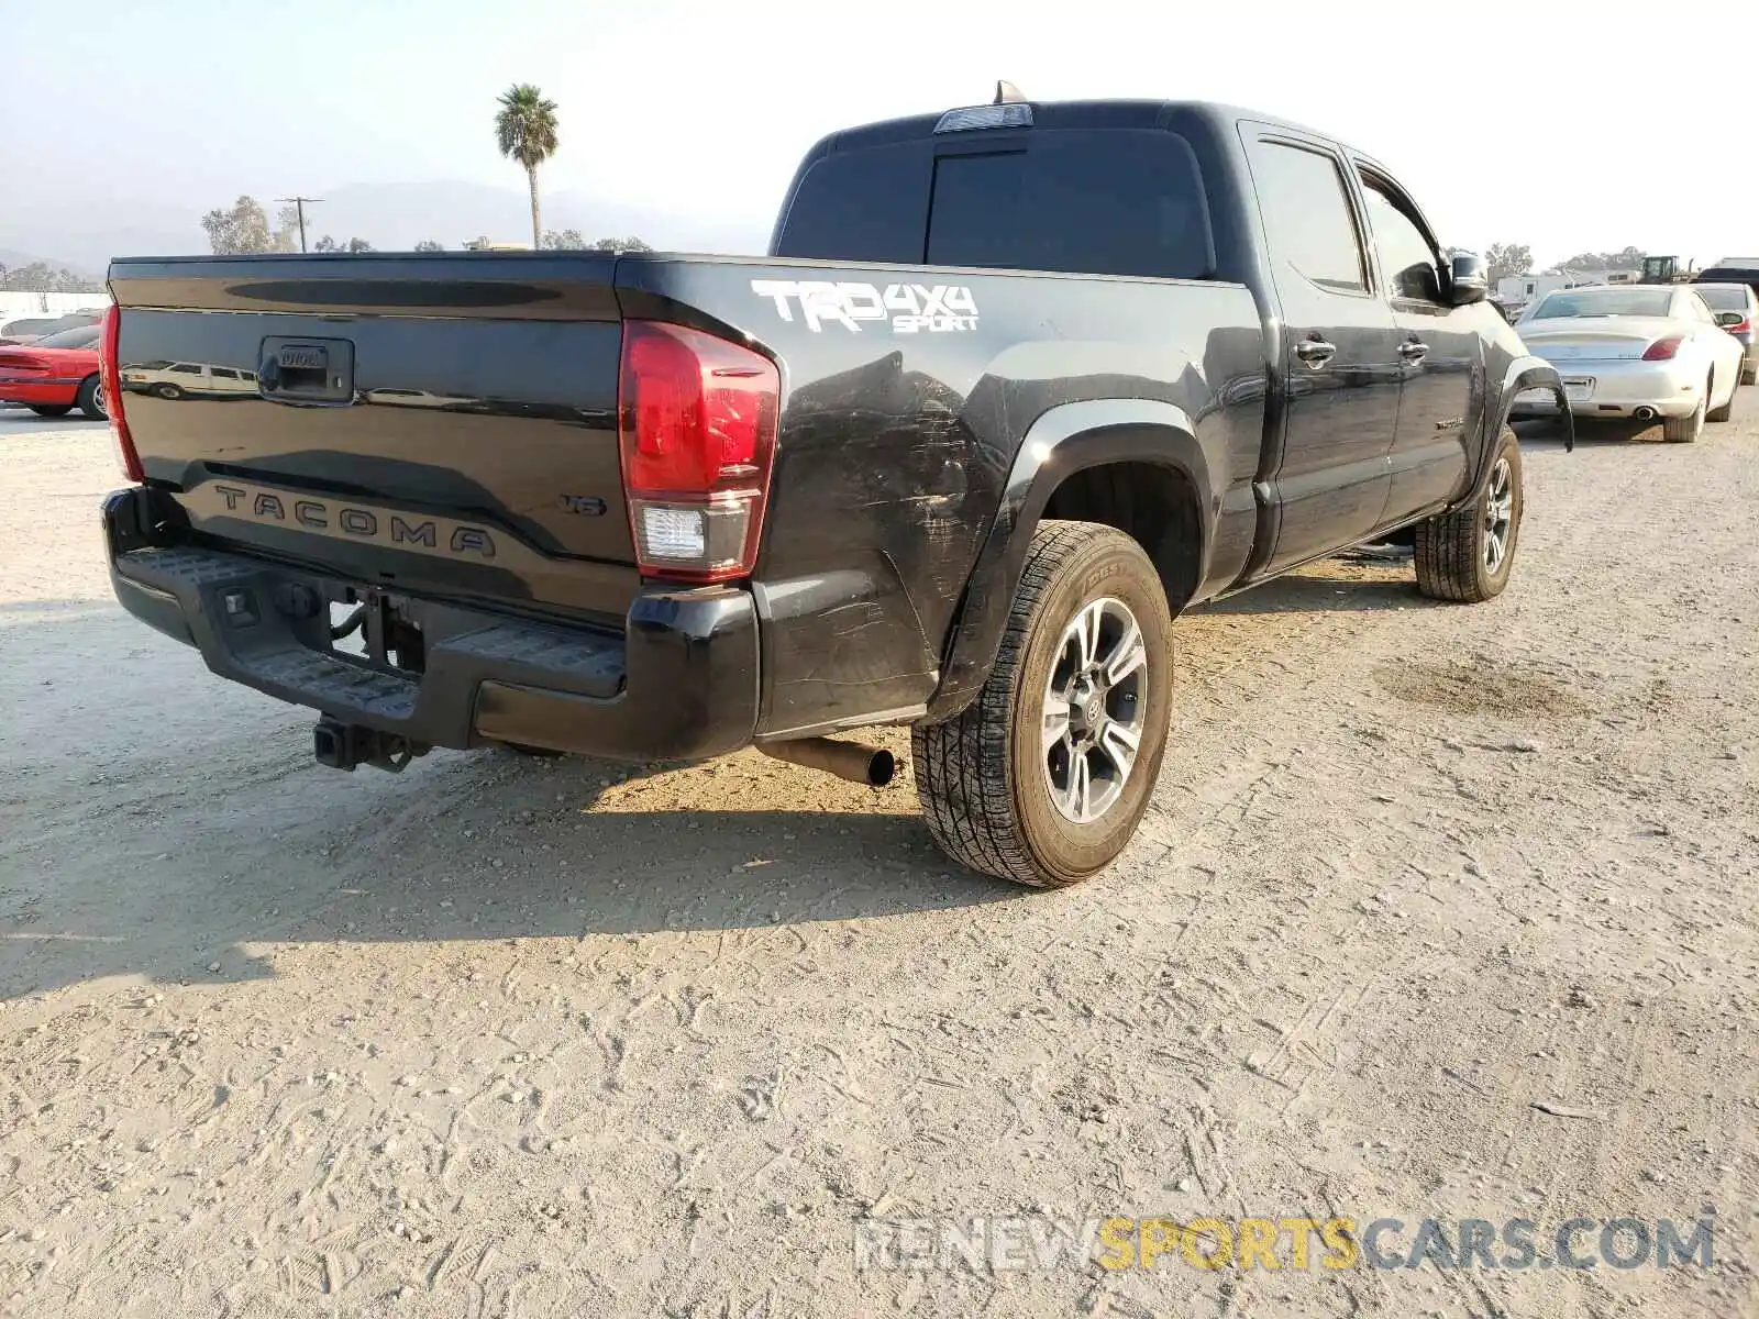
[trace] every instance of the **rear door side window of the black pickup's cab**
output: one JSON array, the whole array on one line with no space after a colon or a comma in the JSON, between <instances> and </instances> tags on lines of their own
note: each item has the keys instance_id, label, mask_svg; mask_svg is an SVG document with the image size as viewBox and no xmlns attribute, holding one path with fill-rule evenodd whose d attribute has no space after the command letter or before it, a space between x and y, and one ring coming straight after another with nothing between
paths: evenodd
<instances>
[{"instance_id":1,"label":"rear door side window of the black pickup's cab","mask_svg":"<svg viewBox=\"0 0 1759 1319\"><path fill-rule=\"evenodd\" d=\"M1333 292L1367 292L1349 193L1330 155L1282 142L1252 142L1252 179L1270 255L1279 267L1293 266Z\"/></svg>"}]
</instances>

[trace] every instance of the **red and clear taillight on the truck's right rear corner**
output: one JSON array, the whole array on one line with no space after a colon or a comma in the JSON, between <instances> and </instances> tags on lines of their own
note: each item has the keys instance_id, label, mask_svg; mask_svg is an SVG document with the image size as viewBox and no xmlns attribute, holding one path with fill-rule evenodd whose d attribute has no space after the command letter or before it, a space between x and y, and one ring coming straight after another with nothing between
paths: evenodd
<instances>
[{"instance_id":1,"label":"red and clear taillight on the truck's right rear corner","mask_svg":"<svg viewBox=\"0 0 1759 1319\"><path fill-rule=\"evenodd\" d=\"M751 573L779 403L767 357L682 325L624 324L617 438L642 573L684 582Z\"/></svg>"}]
</instances>

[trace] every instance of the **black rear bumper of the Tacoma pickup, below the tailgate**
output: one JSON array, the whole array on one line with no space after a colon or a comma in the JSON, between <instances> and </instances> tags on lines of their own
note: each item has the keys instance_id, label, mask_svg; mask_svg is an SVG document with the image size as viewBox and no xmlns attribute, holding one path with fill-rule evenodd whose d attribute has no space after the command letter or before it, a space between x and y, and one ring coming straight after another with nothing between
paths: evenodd
<instances>
[{"instance_id":1,"label":"black rear bumper of the Tacoma pickup, below the tailgate","mask_svg":"<svg viewBox=\"0 0 1759 1319\"><path fill-rule=\"evenodd\" d=\"M624 631L399 600L422 672L329 645L327 601L350 586L264 559L155 547L135 491L104 503L123 608L202 652L220 677L410 742L519 742L614 760L700 760L751 742L758 631L739 589L642 591Z\"/></svg>"}]
</instances>

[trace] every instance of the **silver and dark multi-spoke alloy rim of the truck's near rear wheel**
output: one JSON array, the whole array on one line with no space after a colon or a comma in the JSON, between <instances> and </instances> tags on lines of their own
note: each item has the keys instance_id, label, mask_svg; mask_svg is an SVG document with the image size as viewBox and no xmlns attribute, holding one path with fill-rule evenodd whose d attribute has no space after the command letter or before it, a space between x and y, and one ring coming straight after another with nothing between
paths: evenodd
<instances>
[{"instance_id":1,"label":"silver and dark multi-spoke alloy rim of the truck's near rear wheel","mask_svg":"<svg viewBox=\"0 0 1759 1319\"><path fill-rule=\"evenodd\" d=\"M1136 765L1149 712L1149 647L1129 605L1082 605L1057 640L1045 682L1040 763L1057 813L1091 825Z\"/></svg>"}]
</instances>

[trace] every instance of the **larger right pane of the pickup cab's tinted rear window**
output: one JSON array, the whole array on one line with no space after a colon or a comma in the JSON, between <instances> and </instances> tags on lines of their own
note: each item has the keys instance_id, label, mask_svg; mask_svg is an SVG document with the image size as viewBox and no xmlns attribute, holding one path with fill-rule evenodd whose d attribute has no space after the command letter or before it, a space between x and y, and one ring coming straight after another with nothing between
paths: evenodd
<instances>
[{"instance_id":1,"label":"larger right pane of the pickup cab's tinted rear window","mask_svg":"<svg viewBox=\"0 0 1759 1319\"><path fill-rule=\"evenodd\" d=\"M1022 149L943 155L931 266L1142 274L1214 273L1196 158L1168 132L1040 132Z\"/></svg>"}]
</instances>

